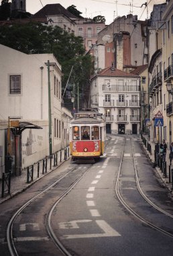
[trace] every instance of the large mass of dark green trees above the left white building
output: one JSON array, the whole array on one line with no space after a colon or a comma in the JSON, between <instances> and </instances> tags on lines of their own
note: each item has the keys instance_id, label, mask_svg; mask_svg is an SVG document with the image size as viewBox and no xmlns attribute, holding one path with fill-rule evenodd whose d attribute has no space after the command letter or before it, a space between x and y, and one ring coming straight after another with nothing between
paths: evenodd
<instances>
[{"instance_id":1,"label":"large mass of dark green trees above the left white building","mask_svg":"<svg viewBox=\"0 0 173 256\"><path fill-rule=\"evenodd\" d=\"M74 34L55 26L43 26L40 23L13 24L13 26L0 26L0 44L27 54L54 53L62 65L62 87L73 67L73 83L80 84L80 91L90 77L92 60L90 55L84 55L83 40Z\"/></svg>"}]
</instances>

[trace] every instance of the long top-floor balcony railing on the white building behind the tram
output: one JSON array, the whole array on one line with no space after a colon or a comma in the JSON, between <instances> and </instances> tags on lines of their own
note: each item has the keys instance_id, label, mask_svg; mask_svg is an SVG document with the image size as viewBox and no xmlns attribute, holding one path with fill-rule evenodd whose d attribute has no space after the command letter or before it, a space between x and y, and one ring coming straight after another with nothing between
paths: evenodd
<instances>
[{"instance_id":1,"label":"long top-floor balcony railing on the white building behind the tram","mask_svg":"<svg viewBox=\"0 0 173 256\"><path fill-rule=\"evenodd\" d=\"M139 89L139 86L111 85L108 87L106 84L103 84L103 91L106 92L139 92Z\"/></svg>"}]
</instances>

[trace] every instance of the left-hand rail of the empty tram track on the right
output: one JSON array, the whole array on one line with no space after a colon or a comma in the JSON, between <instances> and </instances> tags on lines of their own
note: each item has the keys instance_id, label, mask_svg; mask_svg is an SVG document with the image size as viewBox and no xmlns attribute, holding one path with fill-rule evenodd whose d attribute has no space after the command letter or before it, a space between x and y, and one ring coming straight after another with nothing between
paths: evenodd
<instances>
[{"instance_id":1,"label":"left-hand rail of the empty tram track on the right","mask_svg":"<svg viewBox=\"0 0 173 256\"><path fill-rule=\"evenodd\" d=\"M123 162L123 153L124 153L124 148L125 148L125 140L124 140L124 144L123 144L123 150L121 153L121 161L119 164L119 170L117 173L117 180L115 183L115 193L117 195L117 198L119 199L120 203L125 207L125 209L130 212L133 216L135 216L138 220L140 220L141 222L143 222L144 224L147 224L148 226L150 226L151 228L154 228L154 230L158 230L170 237L173 238L173 234L171 234L170 232L167 232L166 230L163 230L162 228L159 228L158 226L152 224L151 222L149 222L148 220L144 219L143 217L139 216L139 214L137 214L123 199L123 197L121 196L121 193L119 191L119 181L120 181L120 174L121 174L121 168L122 168L122 162ZM134 164L134 155L133 155L133 164Z\"/></svg>"}]
</instances>

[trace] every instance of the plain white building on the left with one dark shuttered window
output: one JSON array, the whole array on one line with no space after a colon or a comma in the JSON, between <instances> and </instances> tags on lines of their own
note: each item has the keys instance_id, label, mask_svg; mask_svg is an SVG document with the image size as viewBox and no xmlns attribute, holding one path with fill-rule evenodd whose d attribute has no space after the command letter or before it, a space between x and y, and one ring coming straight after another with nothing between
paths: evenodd
<instances>
[{"instance_id":1,"label":"plain white building on the left with one dark shuttered window","mask_svg":"<svg viewBox=\"0 0 173 256\"><path fill-rule=\"evenodd\" d=\"M11 136L10 153L13 162L19 161L19 168L24 168L68 145L71 114L61 106L62 72L54 55L26 55L0 44L0 57L2 172L7 154L8 118L19 121L19 127L13 129L16 136Z\"/></svg>"}]
</instances>

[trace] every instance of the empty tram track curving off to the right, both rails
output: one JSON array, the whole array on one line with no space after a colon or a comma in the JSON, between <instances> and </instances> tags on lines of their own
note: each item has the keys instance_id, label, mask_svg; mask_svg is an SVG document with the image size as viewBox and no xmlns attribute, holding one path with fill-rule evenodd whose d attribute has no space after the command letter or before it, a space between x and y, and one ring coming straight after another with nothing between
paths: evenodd
<instances>
[{"instance_id":1,"label":"empty tram track curving off to the right, both rails","mask_svg":"<svg viewBox=\"0 0 173 256\"><path fill-rule=\"evenodd\" d=\"M131 139L131 138L130 138ZM128 203L125 201L125 199L123 199L123 196L120 193L120 181L121 181L121 170L122 170L122 163L123 163L123 158L124 158L124 149L125 149L125 142L126 140L124 140L124 144L123 144L123 150L121 153L121 161L119 164L119 170L117 173L117 179L116 179L116 183L115 183L115 193L117 195L117 198L119 199L119 201L121 202L121 204L125 207L125 209L132 214L133 216L135 216L135 218L137 218L138 220L140 220L141 222L143 222L143 224L146 224L148 226L150 226L151 228L154 228L155 230L158 230L160 232L162 232L163 234L166 234L167 236L170 236L173 238L173 234L171 232L168 232L166 230L164 230L163 228L160 228L159 226L156 226L155 224L153 224L152 222L146 220L145 218L143 218L141 215L137 214L137 212L135 212L132 207L130 207L128 205ZM137 174L137 167L135 164L135 156L134 156L134 149L133 149L133 143L131 140L131 152L132 152L132 158L133 158L133 167L134 167L134 174L135 174L135 183L137 185L137 191L140 193L141 197L143 197L143 199L145 199L146 202L148 202L150 205L152 205L152 207L154 207L154 209L158 210L158 212L161 212L162 214L164 214L165 216L168 216L170 218L173 218L172 214L169 214L168 212L162 210L160 207L158 207L158 205L156 205L155 203L153 203L147 196L145 193L143 193L140 183L139 183L139 177Z\"/></svg>"}]
</instances>

